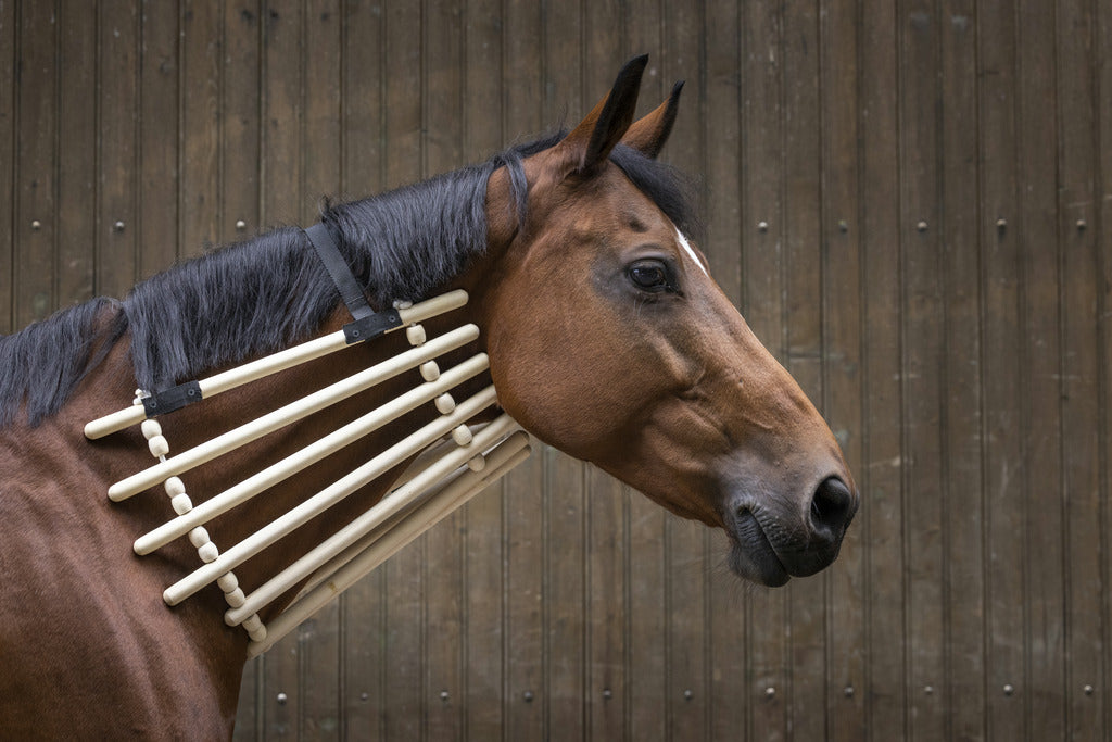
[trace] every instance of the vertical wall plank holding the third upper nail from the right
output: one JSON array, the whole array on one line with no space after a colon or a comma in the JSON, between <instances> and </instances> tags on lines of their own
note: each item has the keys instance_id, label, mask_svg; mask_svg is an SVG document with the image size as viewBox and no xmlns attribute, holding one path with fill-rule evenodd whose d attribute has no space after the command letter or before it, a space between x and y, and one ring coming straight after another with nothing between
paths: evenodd
<instances>
[{"instance_id":1,"label":"vertical wall plank holding the third upper nail from the right","mask_svg":"<svg viewBox=\"0 0 1112 742\"><path fill-rule=\"evenodd\" d=\"M903 353L901 395L904 412L904 497L907 523L907 682L943 689L944 646L941 486L942 277L939 204L939 24L933 3L901 4L901 283ZM912 695L907 734L942 739L945 698Z\"/></svg>"}]
</instances>

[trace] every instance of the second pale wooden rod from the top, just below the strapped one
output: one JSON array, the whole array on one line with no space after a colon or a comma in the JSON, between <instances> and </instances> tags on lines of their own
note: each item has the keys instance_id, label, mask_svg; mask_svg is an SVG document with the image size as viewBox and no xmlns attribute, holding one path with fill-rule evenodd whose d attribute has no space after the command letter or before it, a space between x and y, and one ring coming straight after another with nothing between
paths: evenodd
<instances>
[{"instance_id":1,"label":"second pale wooden rod from the top, just below the strapped one","mask_svg":"<svg viewBox=\"0 0 1112 742\"><path fill-rule=\"evenodd\" d=\"M206 441L172 458L155 464L150 468L120 479L108 488L108 497L113 502L127 499L165 481L167 477L177 476L195 466L210 462L229 451L261 438L295 421L308 417L341 399L368 389L376 384L381 384L386 379L397 376L405 370L415 368L426 360L471 343L478 336L478 327L475 325L464 325L424 345L398 354L358 374L354 374L318 392L306 395L296 402L291 402L284 407L267 413L261 417L257 417L250 423L245 423L235 429Z\"/></svg>"}]
</instances>

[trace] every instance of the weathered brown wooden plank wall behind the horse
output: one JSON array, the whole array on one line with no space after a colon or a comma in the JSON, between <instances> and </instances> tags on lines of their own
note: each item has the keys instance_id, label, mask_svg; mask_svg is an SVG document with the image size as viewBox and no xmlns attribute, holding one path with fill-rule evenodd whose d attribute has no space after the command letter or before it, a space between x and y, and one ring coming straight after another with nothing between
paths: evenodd
<instances>
[{"instance_id":1,"label":"weathered brown wooden plank wall behind the horse","mask_svg":"<svg viewBox=\"0 0 1112 742\"><path fill-rule=\"evenodd\" d=\"M647 51L714 274L864 492L784 590L542 451L239 739L1112 735L1109 0L0 0L0 330L574 122Z\"/></svg>"}]
</instances>

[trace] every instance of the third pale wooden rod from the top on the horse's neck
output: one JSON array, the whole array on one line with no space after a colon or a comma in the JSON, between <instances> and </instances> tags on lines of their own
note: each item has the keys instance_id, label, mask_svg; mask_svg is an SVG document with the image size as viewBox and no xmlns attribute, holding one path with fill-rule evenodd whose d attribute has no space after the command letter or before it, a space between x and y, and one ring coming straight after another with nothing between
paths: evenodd
<instances>
[{"instance_id":1,"label":"third pale wooden rod from the top on the horse's neck","mask_svg":"<svg viewBox=\"0 0 1112 742\"><path fill-rule=\"evenodd\" d=\"M290 454L286 458L271 464L265 469L252 474L242 482L214 495L183 515L163 523L153 531L140 536L133 545L140 556L161 548L175 538L189 533L199 525L205 525L212 518L227 513L232 507L241 505L260 492L287 479L321 458L348 446L359 438L377 431L387 423L401 417L423 404L426 404L448 389L484 372L489 362L485 353L471 356L461 364L446 370L434 382L426 382L415 389L376 407L363 417L351 421L332 433L315 441L305 448Z\"/></svg>"}]
</instances>

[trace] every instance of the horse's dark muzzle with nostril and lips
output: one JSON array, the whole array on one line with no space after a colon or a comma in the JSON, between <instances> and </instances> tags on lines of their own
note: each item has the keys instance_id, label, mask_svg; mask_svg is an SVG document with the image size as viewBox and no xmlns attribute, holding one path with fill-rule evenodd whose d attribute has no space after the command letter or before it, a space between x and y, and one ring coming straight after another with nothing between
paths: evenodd
<instances>
[{"instance_id":1,"label":"horse's dark muzzle with nostril and lips","mask_svg":"<svg viewBox=\"0 0 1112 742\"><path fill-rule=\"evenodd\" d=\"M838 476L824 478L803 503L739 493L726 523L729 566L771 587L815 574L837 558L857 504L857 494Z\"/></svg>"}]
</instances>

